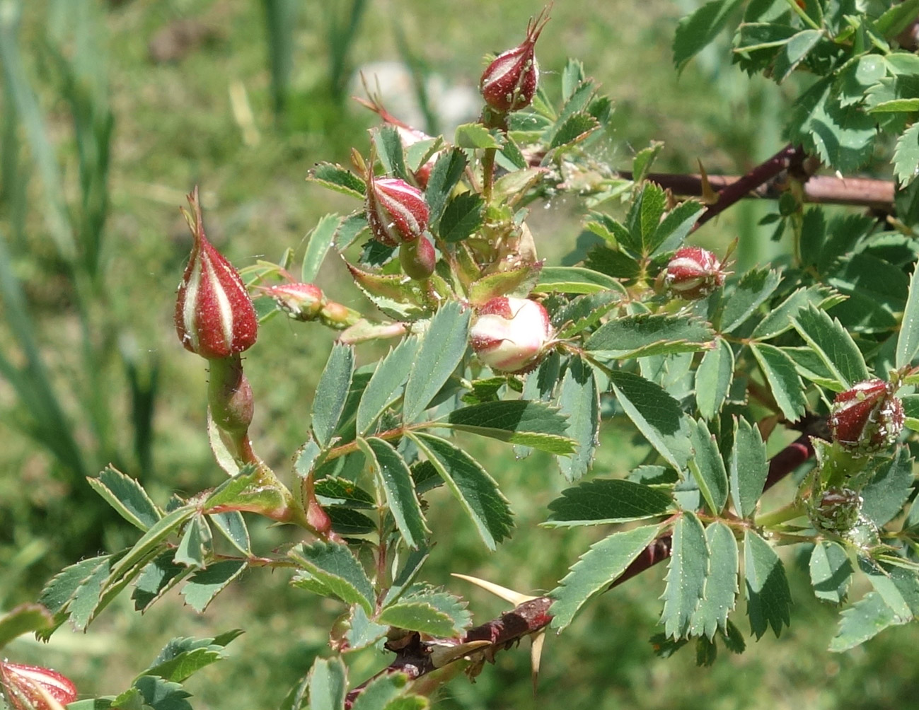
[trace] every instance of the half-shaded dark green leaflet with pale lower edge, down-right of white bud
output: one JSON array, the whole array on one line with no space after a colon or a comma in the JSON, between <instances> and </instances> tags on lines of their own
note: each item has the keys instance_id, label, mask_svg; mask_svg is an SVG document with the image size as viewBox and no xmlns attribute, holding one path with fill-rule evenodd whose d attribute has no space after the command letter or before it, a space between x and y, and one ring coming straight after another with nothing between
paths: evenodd
<instances>
[{"instance_id":1,"label":"half-shaded dark green leaflet with pale lower edge, down-right of white bud","mask_svg":"<svg viewBox=\"0 0 919 710\"><path fill-rule=\"evenodd\" d=\"M619 406L641 434L677 470L689 458L689 427L680 404L664 389L630 372L609 374Z\"/></svg>"}]
</instances>

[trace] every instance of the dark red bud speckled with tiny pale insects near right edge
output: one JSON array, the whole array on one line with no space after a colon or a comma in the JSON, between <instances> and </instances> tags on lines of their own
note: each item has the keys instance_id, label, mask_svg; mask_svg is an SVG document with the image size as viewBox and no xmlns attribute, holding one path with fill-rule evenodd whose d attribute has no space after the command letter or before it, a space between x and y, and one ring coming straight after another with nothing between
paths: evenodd
<instances>
[{"instance_id":1,"label":"dark red bud speckled with tiny pale insects near right edge","mask_svg":"<svg viewBox=\"0 0 919 710\"><path fill-rule=\"evenodd\" d=\"M830 409L833 440L854 453L867 454L892 445L903 421L903 405L882 379L866 379L840 392Z\"/></svg>"}]
</instances>

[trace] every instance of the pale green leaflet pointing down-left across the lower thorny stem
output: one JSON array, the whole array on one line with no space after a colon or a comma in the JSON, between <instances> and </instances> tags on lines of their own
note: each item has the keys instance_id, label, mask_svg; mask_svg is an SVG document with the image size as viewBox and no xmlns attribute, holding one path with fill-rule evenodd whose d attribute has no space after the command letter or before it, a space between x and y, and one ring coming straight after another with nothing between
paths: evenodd
<instances>
[{"instance_id":1,"label":"pale green leaflet pointing down-left across the lower thorny stem","mask_svg":"<svg viewBox=\"0 0 919 710\"><path fill-rule=\"evenodd\" d=\"M590 547L574 563L571 571L549 592L552 603L552 628L562 630L572 623L574 614L615 581L660 531L646 525L609 535Z\"/></svg>"}]
</instances>

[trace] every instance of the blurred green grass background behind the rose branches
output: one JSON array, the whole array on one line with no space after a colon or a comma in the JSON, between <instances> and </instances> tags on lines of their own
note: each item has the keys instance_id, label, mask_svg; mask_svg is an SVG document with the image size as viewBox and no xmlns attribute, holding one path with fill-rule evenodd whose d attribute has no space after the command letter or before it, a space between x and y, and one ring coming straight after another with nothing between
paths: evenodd
<instances>
[{"instance_id":1,"label":"blurred green grass background behind the rose branches","mask_svg":"<svg viewBox=\"0 0 919 710\"><path fill-rule=\"evenodd\" d=\"M727 39L676 76L670 42L694 7L554 8L539 42L544 81L557 92L565 59L584 61L615 102L604 148L611 163L628 168L656 139L666 143L657 169L695 172L699 159L710 173L736 174L781 147L794 87L749 81L729 65ZM414 107L419 128L451 130L464 105L450 103L459 107L444 116L444 96L474 93L482 56L515 45L538 10L522 0L0 0L0 610L34 599L63 565L134 539L85 484L105 463L142 479L161 503L172 490L221 480L204 431L204 366L179 347L172 325L190 246L177 207L191 186L200 184L209 234L236 265L302 247L319 216L355 207L303 178L316 161L346 163L352 145L366 150L374 117L348 98L356 68L402 62L410 71L384 93L387 106ZM699 238L740 236L741 265L765 262L784 248L755 227L766 209L743 203ZM573 249L581 211L568 200L535 210L543 255ZM361 306L334 259L320 283ZM332 339L318 325L274 319L247 358L258 451L281 470L305 437ZM631 440L607 425L596 473L624 474L642 454L623 445ZM482 621L501 604L450 571L548 590L600 531L537 527L565 488L548 457L518 462L503 447L470 445L511 499L516 536L486 555L436 493L425 579L467 595ZM255 539L270 549L286 534L261 527ZM452 682L437 705L867 710L915 697L913 627L829 654L835 612L814 601L806 569L794 559L789 568L790 632L741 657L722 651L711 669L695 668L691 648L668 660L652 654L662 567L549 639L538 699L521 649L499 656L475 685ZM289 589L285 575L256 571L203 616L175 595L145 619L121 600L85 637L62 629L49 647L26 639L8 653L59 668L85 693L117 693L170 637L241 626L232 658L190 683L196 707L270 708L323 653L339 613ZM350 661L359 681L385 659L371 650Z\"/></svg>"}]
</instances>

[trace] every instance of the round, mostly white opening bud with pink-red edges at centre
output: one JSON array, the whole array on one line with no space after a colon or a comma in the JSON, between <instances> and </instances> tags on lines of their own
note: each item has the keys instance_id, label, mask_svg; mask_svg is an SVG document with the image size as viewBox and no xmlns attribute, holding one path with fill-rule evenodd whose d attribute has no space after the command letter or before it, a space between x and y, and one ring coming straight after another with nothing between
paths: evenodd
<instances>
[{"instance_id":1,"label":"round, mostly white opening bud with pink-red edges at centre","mask_svg":"<svg viewBox=\"0 0 919 710\"><path fill-rule=\"evenodd\" d=\"M541 303L499 296L479 309L470 344L482 363L494 370L529 372L545 355L553 335Z\"/></svg>"}]
</instances>

